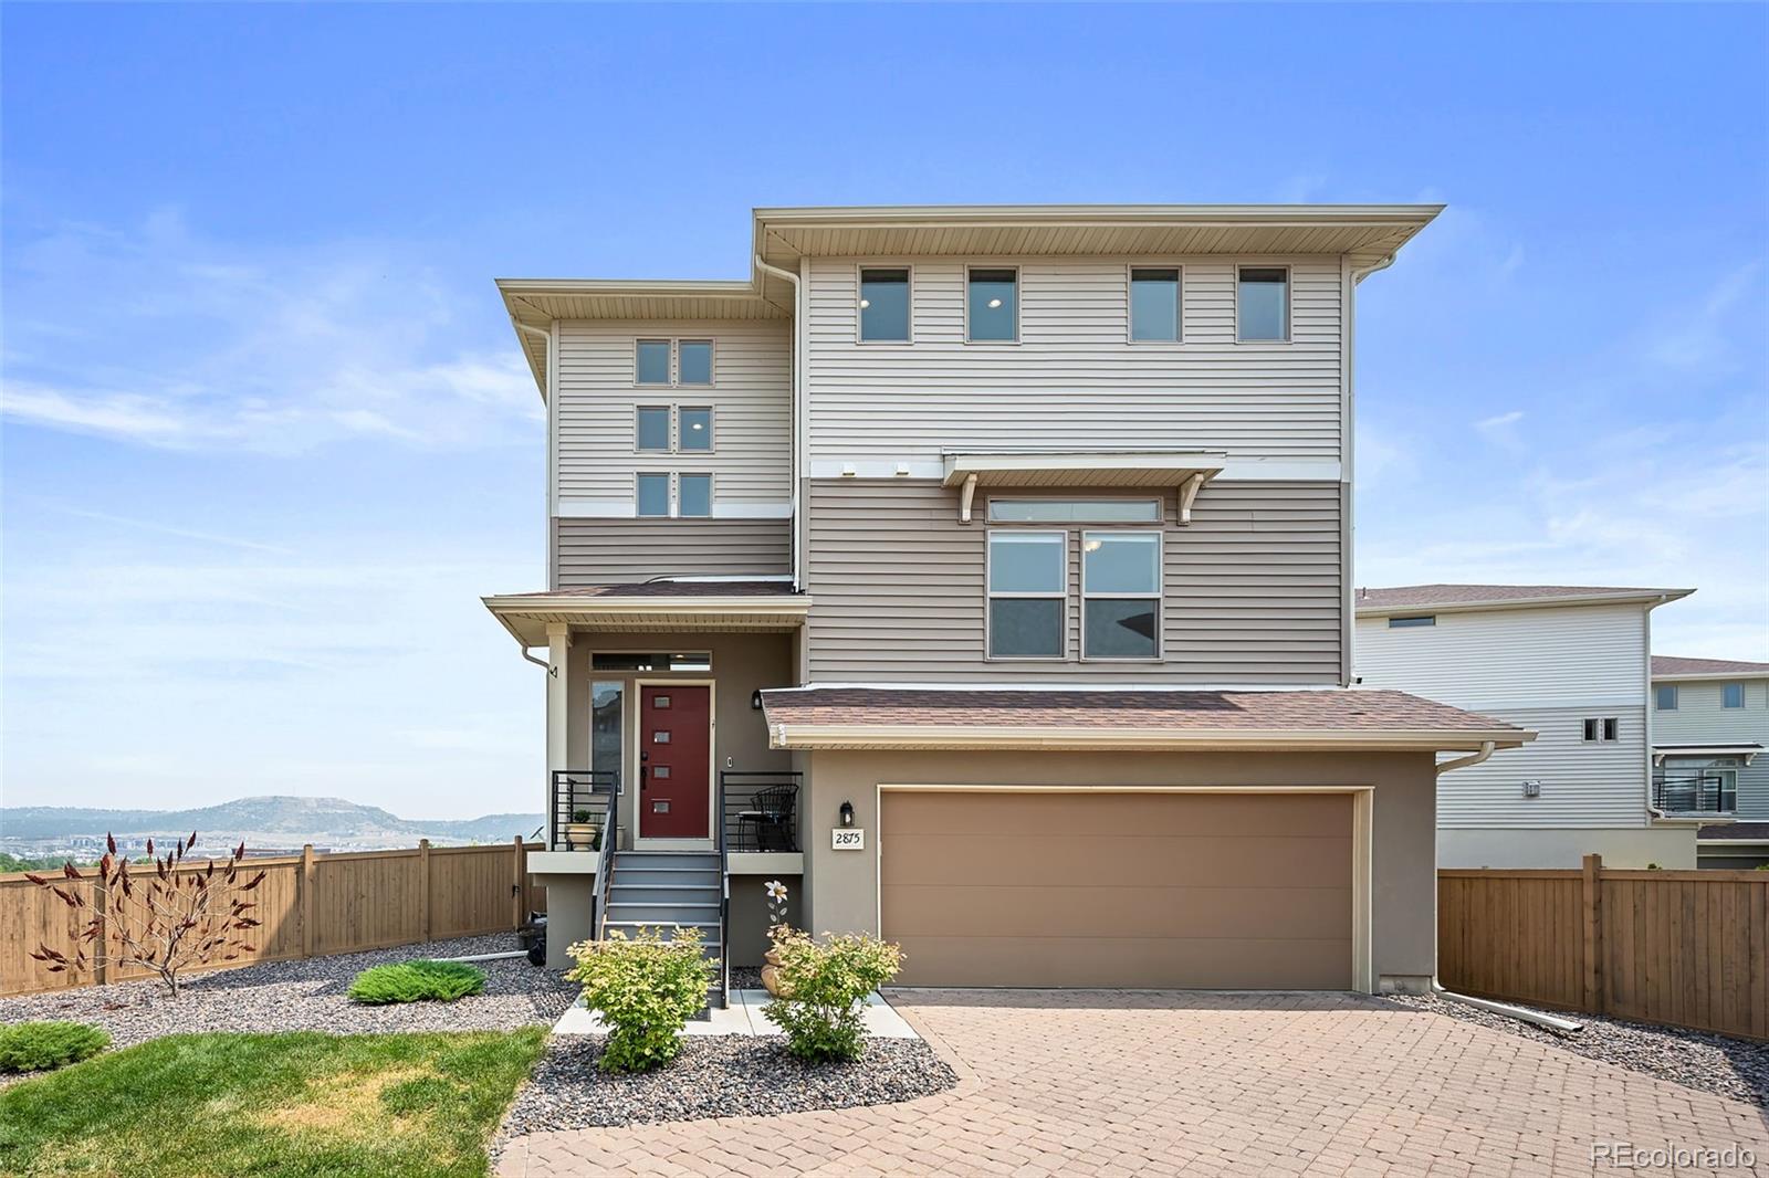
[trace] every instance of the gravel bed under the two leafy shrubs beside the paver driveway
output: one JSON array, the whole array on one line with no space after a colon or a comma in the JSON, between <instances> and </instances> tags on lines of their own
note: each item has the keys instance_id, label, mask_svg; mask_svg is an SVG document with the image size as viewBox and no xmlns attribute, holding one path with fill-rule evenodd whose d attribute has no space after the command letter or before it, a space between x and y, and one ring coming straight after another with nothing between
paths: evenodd
<instances>
[{"instance_id":1,"label":"gravel bed under the two leafy shrubs beside the paver driveway","mask_svg":"<svg viewBox=\"0 0 1769 1178\"><path fill-rule=\"evenodd\" d=\"M518 1134L644 1121L693 1121L853 1109L945 1091L959 1082L918 1038L872 1038L856 1063L801 1063L785 1038L697 1036L656 1072L596 1070L600 1035L559 1035L504 1118L502 1139Z\"/></svg>"}]
</instances>

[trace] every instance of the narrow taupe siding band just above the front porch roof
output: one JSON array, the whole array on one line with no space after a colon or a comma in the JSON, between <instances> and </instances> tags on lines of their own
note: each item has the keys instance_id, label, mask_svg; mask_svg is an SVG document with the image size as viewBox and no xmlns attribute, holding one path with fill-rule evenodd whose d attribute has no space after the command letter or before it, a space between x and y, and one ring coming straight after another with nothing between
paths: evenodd
<instances>
[{"instance_id":1,"label":"narrow taupe siding band just above the front porch roof","mask_svg":"<svg viewBox=\"0 0 1769 1178\"><path fill-rule=\"evenodd\" d=\"M559 589L791 573L787 520L554 520Z\"/></svg>"}]
</instances>

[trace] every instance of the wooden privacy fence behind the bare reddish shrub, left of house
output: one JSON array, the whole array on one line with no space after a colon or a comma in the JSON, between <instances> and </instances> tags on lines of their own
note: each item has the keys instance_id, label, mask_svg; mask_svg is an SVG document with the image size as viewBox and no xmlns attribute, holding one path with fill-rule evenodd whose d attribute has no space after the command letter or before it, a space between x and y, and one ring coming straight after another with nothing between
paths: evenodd
<instances>
[{"instance_id":1,"label":"wooden privacy fence behind the bare reddish shrub, left of house","mask_svg":"<svg viewBox=\"0 0 1769 1178\"><path fill-rule=\"evenodd\" d=\"M246 860L242 881L264 872L264 883L249 897L258 906L253 916L264 925L248 930L253 952L228 964L354 953L517 929L531 907L538 907L540 890L529 884L527 858L529 845L515 838L485 847L432 847L423 840L402 851L336 854L315 854L310 845L299 856ZM180 870L207 867L207 860L189 860ZM87 870L78 884L60 884L80 888L96 911L104 911L106 895L96 876ZM0 876L0 994L152 976L122 964L115 936L104 937L101 953L85 946L94 964L80 976L50 973L44 962L30 957L39 945L73 957L90 920L90 911L69 907L21 874Z\"/></svg>"}]
</instances>

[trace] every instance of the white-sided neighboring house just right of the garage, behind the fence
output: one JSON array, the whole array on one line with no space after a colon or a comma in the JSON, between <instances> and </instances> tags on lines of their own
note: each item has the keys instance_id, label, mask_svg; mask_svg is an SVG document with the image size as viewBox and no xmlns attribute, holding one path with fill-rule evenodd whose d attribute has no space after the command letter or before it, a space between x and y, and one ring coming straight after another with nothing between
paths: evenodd
<instances>
[{"instance_id":1,"label":"white-sided neighboring house just right of the garage, behind the fence","mask_svg":"<svg viewBox=\"0 0 1769 1178\"><path fill-rule=\"evenodd\" d=\"M1440 867L1695 867L1650 792L1652 610L1691 589L1401 585L1357 593L1357 674L1535 731L1438 782Z\"/></svg>"}]
</instances>

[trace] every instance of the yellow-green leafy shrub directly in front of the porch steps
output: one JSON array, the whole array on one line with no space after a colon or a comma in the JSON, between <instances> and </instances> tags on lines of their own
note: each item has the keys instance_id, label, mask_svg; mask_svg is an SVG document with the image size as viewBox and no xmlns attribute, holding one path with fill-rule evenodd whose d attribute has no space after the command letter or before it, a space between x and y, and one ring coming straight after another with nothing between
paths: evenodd
<instances>
[{"instance_id":1,"label":"yellow-green leafy shrub directly in front of the porch steps","mask_svg":"<svg viewBox=\"0 0 1769 1178\"><path fill-rule=\"evenodd\" d=\"M656 929L632 939L616 929L607 941L578 941L571 957L577 968L566 976L584 983L584 1005L609 1028L603 1072L646 1072L676 1058L681 1029L713 983L699 929L674 929L669 941Z\"/></svg>"}]
</instances>

